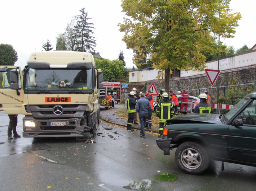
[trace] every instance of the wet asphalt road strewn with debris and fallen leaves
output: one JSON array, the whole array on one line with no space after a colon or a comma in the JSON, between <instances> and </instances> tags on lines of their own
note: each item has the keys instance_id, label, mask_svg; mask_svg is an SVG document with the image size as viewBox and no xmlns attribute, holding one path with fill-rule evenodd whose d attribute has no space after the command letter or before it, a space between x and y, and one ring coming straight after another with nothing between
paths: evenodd
<instances>
[{"instance_id":1,"label":"wet asphalt road strewn with debris and fallen leaves","mask_svg":"<svg viewBox=\"0 0 256 191\"><path fill-rule=\"evenodd\" d=\"M212 162L200 176L181 172L175 150L163 155L153 134L142 139L138 131L101 122L97 132L105 137L96 135L93 144L73 138L8 140L9 118L3 111L0 118L0 190L256 190L255 167L224 163L221 172L221 162ZM177 180L159 180L161 173L174 174Z\"/></svg>"}]
</instances>

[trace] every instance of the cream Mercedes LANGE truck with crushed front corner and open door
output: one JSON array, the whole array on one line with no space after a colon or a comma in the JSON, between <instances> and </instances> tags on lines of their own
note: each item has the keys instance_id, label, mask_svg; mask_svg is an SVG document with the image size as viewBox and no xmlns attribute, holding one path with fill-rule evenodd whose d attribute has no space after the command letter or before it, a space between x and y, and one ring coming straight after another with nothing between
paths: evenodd
<instances>
[{"instance_id":1,"label":"cream Mercedes LANGE truck with crushed front corner and open door","mask_svg":"<svg viewBox=\"0 0 256 191\"><path fill-rule=\"evenodd\" d=\"M23 70L0 66L0 72L0 109L25 115L23 137L96 135L103 73L91 53L35 52Z\"/></svg>"}]
</instances>

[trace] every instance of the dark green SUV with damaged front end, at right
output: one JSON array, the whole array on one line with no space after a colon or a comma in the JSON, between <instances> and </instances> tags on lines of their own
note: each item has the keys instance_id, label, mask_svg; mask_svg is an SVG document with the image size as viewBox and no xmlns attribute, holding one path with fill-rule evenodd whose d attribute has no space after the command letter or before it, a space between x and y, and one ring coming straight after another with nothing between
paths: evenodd
<instances>
[{"instance_id":1,"label":"dark green SUV with damaged front end, at right","mask_svg":"<svg viewBox=\"0 0 256 191\"><path fill-rule=\"evenodd\" d=\"M256 92L225 115L191 113L168 120L156 143L189 174L202 174L209 159L256 166Z\"/></svg>"}]
</instances>

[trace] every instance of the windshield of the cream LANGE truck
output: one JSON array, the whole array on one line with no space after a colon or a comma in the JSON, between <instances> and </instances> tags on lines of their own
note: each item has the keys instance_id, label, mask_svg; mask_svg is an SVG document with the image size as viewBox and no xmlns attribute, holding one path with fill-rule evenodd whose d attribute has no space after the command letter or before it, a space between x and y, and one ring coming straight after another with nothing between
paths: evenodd
<instances>
[{"instance_id":1,"label":"windshield of the cream LANGE truck","mask_svg":"<svg viewBox=\"0 0 256 191\"><path fill-rule=\"evenodd\" d=\"M26 90L90 90L93 89L92 68L32 69L25 73Z\"/></svg>"}]
</instances>

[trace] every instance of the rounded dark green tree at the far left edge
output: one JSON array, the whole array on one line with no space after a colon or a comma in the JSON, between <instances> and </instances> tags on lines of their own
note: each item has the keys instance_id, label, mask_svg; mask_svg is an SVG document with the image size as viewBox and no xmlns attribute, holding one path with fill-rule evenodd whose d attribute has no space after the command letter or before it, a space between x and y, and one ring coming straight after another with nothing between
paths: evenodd
<instances>
[{"instance_id":1,"label":"rounded dark green tree at the far left edge","mask_svg":"<svg viewBox=\"0 0 256 191\"><path fill-rule=\"evenodd\" d=\"M13 49L12 45L0 45L0 65L14 65L18 60L18 54Z\"/></svg>"}]
</instances>

